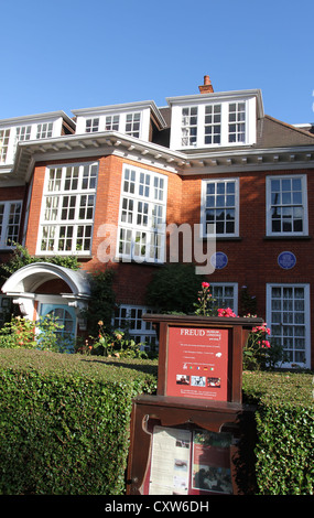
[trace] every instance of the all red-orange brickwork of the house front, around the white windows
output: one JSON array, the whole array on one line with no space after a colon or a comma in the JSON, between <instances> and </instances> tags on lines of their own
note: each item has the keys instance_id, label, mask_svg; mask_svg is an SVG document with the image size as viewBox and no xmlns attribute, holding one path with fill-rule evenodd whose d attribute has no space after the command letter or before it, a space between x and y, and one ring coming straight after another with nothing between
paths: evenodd
<instances>
[{"instance_id":1,"label":"all red-orange brickwork of the house front, around the white windows","mask_svg":"<svg viewBox=\"0 0 314 518\"><path fill-rule=\"evenodd\" d=\"M115 290L119 302L128 304L143 304L147 285L158 266L124 262L102 262L99 251L104 247L106 234L100 233L101 225L118 226L119 203L122 166L124 163L141 166L138 162L124 160L119 157L88 157L83 161L99 161L99 175L97 185L97 199L95 208L94 239L91 258L83 260L83 269L99 271L112 268L115 276ZM77 160L54 162L54 164L77 163ZM50 165L52 162L50 162ZM30 205L30 215L26 233L26 247L35 253L40 224L41 204L45 168L47 163L37 163L33 176L33 191ZM202 179L205 176L166 173L153 166L143 165L143 169L166 174L167 184L167 220L166 224L177 225L190 223L199 224L201 220L201 190ZM314 280L313 229L314 212L311 201L314 196L314 177L312 170L293 170L294 174L307 176L307 206L310 238L270 239L266 237L266 177L275 173L242 172L236 174L208 175L208 179L239 177L240 209L239 209L239 239L217 239L216 250L228 256L228 265L208 276L209 282L237 282L239 294L241 287L248 287L249 293L256 295L258 315L266 317L266 288L267 283L310 283ZM291 175L292 172L278 171L278 175ZM2 188L0 199L18 199L25 197L24 187ZM25 209L25 202L24 202ZM108 236L107 236L108 237ZM167 239L169 240L169 239ZM116 246L113 244L113 255ZM296 265L291 270L283 270L278 266L280 252L289 250L296 257ZM311 289L311 305L314 306L314 290ZM314 333L314 319L311 322ZM314 353L314 350L313 350ZM312 354L314 358L314 354Z\"/></svg>"}]
</instances>

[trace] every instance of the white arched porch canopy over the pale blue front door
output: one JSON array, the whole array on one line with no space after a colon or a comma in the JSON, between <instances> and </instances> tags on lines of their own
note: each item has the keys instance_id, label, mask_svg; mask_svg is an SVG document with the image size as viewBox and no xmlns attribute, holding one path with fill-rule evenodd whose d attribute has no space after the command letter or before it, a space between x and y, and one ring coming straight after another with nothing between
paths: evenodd
<instances>
[{"instance_id":1,"label":"white arched porch canopy over the pale blue front door","mask_svg":"<svg viewBox=\"0 0 314 518\"><path fill-rule=\"evenodd\" d=\"M86 307L90 296L90 285L86 272L71 270L50 262L32 262L4 282L2 292L13 298L20 305L22 314L33 320L35 301L40 298L40 287L52 280L62 280L68 287L68 292L59 293L64 303L75 307L77 316Z\"/></svg>"}]
</instances>

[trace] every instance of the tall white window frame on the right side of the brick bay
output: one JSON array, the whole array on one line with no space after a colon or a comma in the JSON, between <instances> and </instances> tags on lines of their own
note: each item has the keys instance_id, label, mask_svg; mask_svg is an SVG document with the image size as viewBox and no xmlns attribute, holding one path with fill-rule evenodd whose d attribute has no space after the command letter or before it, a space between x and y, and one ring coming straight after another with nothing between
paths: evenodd
<instances>
[{"instance_id":1,"label":"tall white window frame on the right side of the brick bay","mask_svg":"<svg viewBox=\"0 0 314 518\"><path fill-rule=\"evenodd\" d=\"M127 171L130 174L129 179L126 176ZM149 185L147 183L148 176L151 179ZM141 182L141 179L143 182ZM163 199L160 199L161 180L163 181ZM116 250L119 259L126 262L164 262L166 205L167 176L165 174L123 164ZM154 211L160 207L162 207L163 214L154 214ZM160 211L158 212L160 213ZM161 219L156 222L158 226L155 226L154 218ZM156 240L156 246L152 242L153 239ZM153 247L154 257L151 257L151 247ZM145 252L137 253L137 250L142 248L144 248ZM126 251L126 249L129 251ZM155 255L158 249L160 250L159 257Z\"/></svg>"}]
</instances>

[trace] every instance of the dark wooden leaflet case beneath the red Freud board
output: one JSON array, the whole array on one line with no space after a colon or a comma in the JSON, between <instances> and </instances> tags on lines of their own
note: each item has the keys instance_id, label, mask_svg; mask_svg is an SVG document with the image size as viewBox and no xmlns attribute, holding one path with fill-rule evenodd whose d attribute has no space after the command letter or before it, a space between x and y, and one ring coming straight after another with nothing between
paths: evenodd
<instances>
[{"instance_id":1,"label":"dark wooden leaflet case beneath the red Freud board","mask_svg":"<svg viewBox=\"0 0 314 518\"><path fill-rule=\"evenodd\" d=\"M137 398L127 494L253 494L253 410L170 396Z\"/></svg>"}]
</instances>

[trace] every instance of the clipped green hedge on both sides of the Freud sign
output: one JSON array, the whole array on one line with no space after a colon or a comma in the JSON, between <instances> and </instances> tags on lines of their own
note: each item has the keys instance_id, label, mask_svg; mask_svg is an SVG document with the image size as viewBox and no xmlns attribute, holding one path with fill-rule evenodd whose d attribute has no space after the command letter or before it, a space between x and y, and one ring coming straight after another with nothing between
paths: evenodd
<instances>
[{"instance_id":1,"label":"clipped green hedge on both sides of the Freud sign","mask_svg":"<svg viewBox=\"0 0 314 518\"><path fill-rule=\"evenodd\" d=\"M0 349L0 494L122 495L132 398L158 363ZM260 495L314 494L313 375L243 373Z\"/></svg>"}]
</instances>

